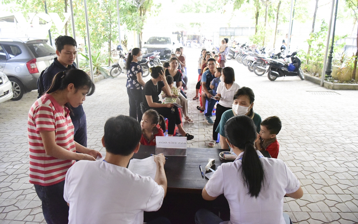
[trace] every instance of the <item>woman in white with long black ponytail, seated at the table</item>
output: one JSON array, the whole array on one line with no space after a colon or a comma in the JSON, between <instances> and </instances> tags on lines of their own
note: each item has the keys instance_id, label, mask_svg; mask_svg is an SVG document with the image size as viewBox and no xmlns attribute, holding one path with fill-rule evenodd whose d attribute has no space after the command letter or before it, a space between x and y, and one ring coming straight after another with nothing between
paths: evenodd
<instances>
[{"instance_id":1,"label":"woman in white with long black ponytail, seated at the table","mask_svg":"<svg viewBox=\"0 0 358 224\"><path fill-rule=\"evenodd\" d=\"M259 139L256 126L248 116L229 119L225 125L226 141L238 155L223 163L205 185L202 196L214 200L221 194L230 206L230 221L223 221L206 209L195 214L197 224L286 224L290 218L283 210L283 198L303 196L299 181L281 159L263 157L255 150Z\"/></svg>"}]
</instances>

